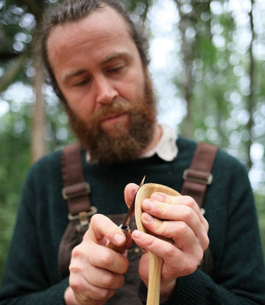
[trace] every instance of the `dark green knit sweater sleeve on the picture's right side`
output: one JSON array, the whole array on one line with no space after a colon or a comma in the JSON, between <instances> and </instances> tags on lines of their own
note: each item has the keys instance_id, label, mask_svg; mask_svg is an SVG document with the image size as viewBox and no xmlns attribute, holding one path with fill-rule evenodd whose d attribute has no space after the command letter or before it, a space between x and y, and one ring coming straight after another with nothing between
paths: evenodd
<instances>
[{"instance_id":1,"label":"dark green knit sweater sleeve on the picture's right side","mask_svg":"<svg viewBox=\"0 0 265 305\"><path fill-rule=\"evenodd\" d=\"M212 276L198 269L178 278L175 291L164 305L265 304L265 271L253 192L245 167L236 163L232 168L230 178L226 175L228 179L221 183L223 194L222 188L216 194L222 200L217 204L216 217L211 219L215 228L210 248L223 244L218 255L212 251ZM215 205L211 199L209 207Z\"/></svg>"}]
</instances>

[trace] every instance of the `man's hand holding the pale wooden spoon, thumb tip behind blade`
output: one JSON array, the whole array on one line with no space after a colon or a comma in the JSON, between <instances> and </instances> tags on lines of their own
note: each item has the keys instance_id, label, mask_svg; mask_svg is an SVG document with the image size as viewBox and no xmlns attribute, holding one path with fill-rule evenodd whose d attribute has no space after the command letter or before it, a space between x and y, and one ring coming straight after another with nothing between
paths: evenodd
<instances>
[{"instance_id":1,"label":"man's hand holding the pale wooden spoon, thumb tip behind blade","mask_svg":"<svg viewBox=\"0 0 265 305\"><path fill-rule=\"evenodd\" d=\"M132 202L138 187L125 187L125 201ZM161 240L153 235L134 231L135 243L163 258L161 296L165 301L179 277L193 273L208 248L208 222L201 215L198 204L189 196L170 196L154 193L141 202L142 224L151 233L170 239ZM148 286L148 254L140 259L140 278Z\"/></svg>"}]
</instances>

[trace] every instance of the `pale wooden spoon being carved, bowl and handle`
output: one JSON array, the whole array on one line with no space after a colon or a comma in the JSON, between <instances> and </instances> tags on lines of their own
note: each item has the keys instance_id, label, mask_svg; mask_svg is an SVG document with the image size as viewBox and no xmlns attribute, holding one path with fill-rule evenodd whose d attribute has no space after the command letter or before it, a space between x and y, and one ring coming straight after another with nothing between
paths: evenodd
<instances>
[{"instance_id":1,"label":"pale wooden spoon being carved, bowl and handle","mask_svg":"<svg viewBox=\"0 0 265 305\"><path fill-rule=\"evenodd\" d=\"M170 187L163 186L161 184L147 183L144 184L138 190L135 198L135 220L137 229L144 233L150 233L141 222L141 202L150 197L151 194L155 192L162 192L165 194L170 194L173 196L180 195L177 191ZM157 235L155 235L157 237ZM165 240L163 238L163 240ZM163 265L163 259L151 252L148 252L149 255L149 265L148 265L148 301L147 305L159 305L160 301L160 283L161 283L161 271Z\"/></svg>"}]
</instances>

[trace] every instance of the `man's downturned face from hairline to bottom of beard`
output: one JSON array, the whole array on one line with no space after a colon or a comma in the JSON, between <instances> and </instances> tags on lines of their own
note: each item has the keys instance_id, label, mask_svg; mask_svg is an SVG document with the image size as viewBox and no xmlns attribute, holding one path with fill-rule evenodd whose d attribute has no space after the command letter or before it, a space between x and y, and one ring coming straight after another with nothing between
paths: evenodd
<instances>
[{"instance_id":1,"label":"man's downturned face from hairline to bottom of beard","mask_svg":"<svg viewBox=\"0 0 265 305\"><path fill-rule=\"evenodd\" d=\"M72 128L91 158L140 156L153 137L155 99L124 19L105 7L55 27L47 43Z\"/></svg>"}]
</instances>

